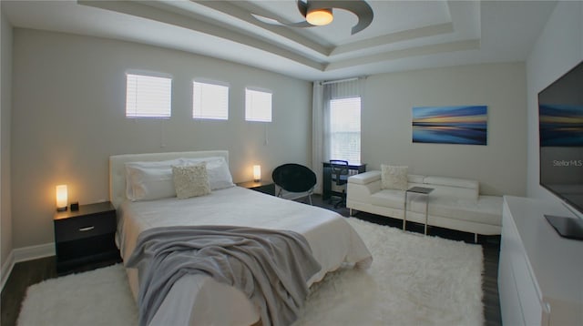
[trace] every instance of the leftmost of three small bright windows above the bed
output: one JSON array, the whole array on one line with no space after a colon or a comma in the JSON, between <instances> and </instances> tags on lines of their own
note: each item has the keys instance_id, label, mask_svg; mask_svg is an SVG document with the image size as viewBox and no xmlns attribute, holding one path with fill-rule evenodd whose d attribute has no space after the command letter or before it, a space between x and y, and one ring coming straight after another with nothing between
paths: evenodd
<instances>
[{"instance_id":1,"label":"leftmost of three small bright windows above the bed","mask_svg":"<svg viewBox=\"0 0 583 326\"><path fill-rule=\"evenodd\" d=\"M172 79L127 74L126 117L170 117Z\"/></svg>"}]
</instances>

